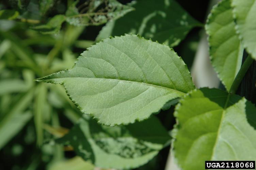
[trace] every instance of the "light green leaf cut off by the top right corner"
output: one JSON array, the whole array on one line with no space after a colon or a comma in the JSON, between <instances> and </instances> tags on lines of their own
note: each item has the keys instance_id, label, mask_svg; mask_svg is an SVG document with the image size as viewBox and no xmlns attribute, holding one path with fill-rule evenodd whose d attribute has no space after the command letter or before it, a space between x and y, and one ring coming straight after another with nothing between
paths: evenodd
<instances>
[{"instance_id":1,"label":"light green leaf cut off by the top right corner","mask_svg":"<svg viewBox=\"0 0 256 170\"><path fill-rule=\"evenodd\" d=\"M256 59L256 1L232 0L236 30L246 51Z\"/></svg>"}]
</instances>

